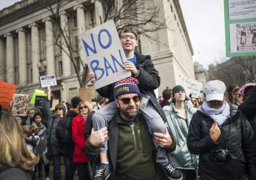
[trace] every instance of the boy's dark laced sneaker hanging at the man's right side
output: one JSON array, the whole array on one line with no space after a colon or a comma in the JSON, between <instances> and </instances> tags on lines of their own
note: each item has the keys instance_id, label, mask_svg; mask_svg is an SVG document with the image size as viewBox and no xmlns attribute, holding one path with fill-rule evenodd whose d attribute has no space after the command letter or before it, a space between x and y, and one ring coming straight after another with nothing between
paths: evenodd
<instances>
[{"instance_id":1,"label":"boy's dark laced sneaker hanging at the man's right side","mask_svg":"<svg viewBox=\"0 0 256 180\"><path fill-rule=\"evenodd\" d=\"M161 165L161 169L163 169L164 174L169 180L182 180L182 174L179 170L175 169L172 163L169 162L167 165Z\"/></svg>"}]
</instances>

